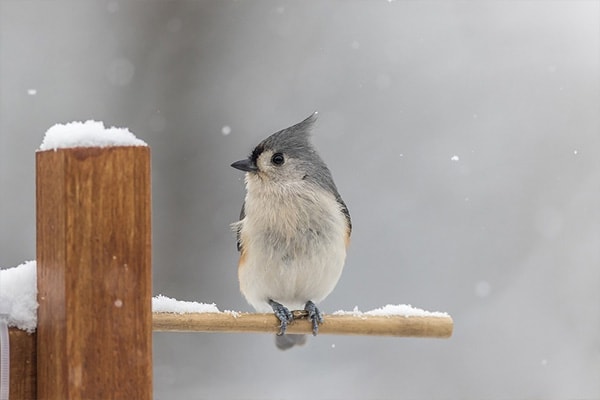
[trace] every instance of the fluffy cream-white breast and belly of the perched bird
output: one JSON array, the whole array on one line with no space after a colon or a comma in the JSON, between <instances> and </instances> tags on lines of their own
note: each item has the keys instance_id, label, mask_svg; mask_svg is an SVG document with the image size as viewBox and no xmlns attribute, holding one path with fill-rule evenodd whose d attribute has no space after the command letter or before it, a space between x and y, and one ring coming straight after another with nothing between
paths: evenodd
<instances>
[{"instance_id":1,"label":"fluffy cream-white breast and belly of the perched bird","mask_svg":"<svg viewBox=\"0 0 600 400\"><path fill-rule=\"evenodd\" d=\"M240 221L240 289L260 312L268 300L290 309L320 302L335 287L346 258L348 226L334 196L308 183L270 187L247 182Z\"/></svg>"}]
</instances>

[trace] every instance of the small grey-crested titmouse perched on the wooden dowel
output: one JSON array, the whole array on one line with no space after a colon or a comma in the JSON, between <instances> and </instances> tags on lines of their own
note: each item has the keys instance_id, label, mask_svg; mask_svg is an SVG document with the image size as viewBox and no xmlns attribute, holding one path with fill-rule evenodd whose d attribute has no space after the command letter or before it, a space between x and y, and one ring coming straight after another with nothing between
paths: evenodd
<instances>
[{"instance_id":1,"label":"small grey-crested titmouse perched on the wooden dowel","mask_svg":"<svg viewBox=\"0 0 600 400\"><path fill-rule=\"evenodd\" d=\"M285 334L292 310L305 310L317 335L323 314L316 304L340 279L352 231L348 207L309 140L316 118L272 134L231 164L246 172L246 198L232 224L240 290L256 311L275 313L282 350L306 341Z\"/></svg>"}]
</instances>

